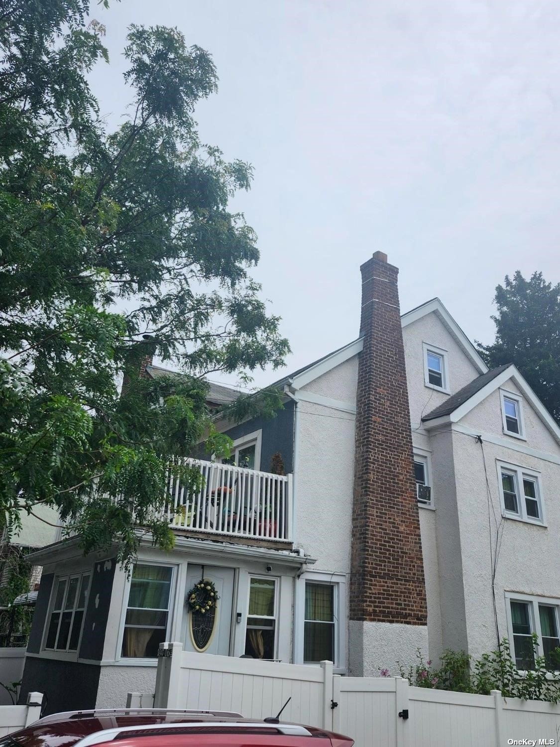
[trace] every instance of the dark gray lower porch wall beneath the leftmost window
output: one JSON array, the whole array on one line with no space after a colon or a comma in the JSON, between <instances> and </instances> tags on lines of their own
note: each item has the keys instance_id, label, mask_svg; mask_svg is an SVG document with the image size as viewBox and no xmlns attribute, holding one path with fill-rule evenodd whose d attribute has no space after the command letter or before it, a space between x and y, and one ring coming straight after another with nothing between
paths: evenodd
<instances>
[{"instance_id":1,"label":"dark gray lower porch wall beneath the leftmost window","mask_svg":"<svg viewBox=\"0 0 560 747\"><path fill-rule=\"evenodd\" d=\"M43 692L45 715L95 708L100 671L95 664L26 657L19 703L27 701L28 692Z\"/></svg>"}]
</instances>

